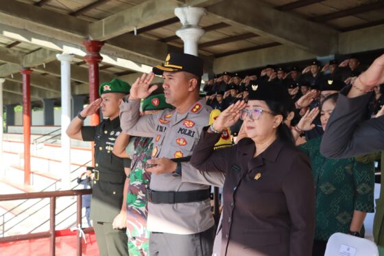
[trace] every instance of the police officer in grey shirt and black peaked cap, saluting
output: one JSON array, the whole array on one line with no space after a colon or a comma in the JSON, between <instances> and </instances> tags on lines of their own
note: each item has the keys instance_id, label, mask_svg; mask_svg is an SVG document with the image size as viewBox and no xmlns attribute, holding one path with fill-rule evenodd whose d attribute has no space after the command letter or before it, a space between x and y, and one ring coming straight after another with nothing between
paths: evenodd
<instances>
[{"instance_id":1,"label":"police officer in grey shirt and black peaked cap, saluting","mask_svg":"<svg viewBox=\"0 0 384 256\"><path fill-rule=\"evenodd\" d=\"M120 106L123 132L153 137L152 160L148 163L154 167L147 168L152 172L147 195L150 255L211 255L214 220L208 186L183 180L183 173L196 172L185 160L191 156L211 112L205 100L199 100L203 62L193 55L171 53L165 65L153 71L163 75L165 100L176 109L139 118L140 99L157 88L149 87L153 73L138 78Z\"/></svg>"}]
</instances>

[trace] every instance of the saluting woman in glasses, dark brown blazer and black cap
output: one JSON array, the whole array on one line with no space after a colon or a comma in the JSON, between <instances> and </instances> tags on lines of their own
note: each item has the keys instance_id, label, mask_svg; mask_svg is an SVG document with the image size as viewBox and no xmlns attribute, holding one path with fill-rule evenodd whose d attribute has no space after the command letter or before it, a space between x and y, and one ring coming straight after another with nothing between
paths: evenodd
<instances>
[{"instance_id":1,"label":"saluting woman in glasses, dark brown blazer and black cap","mask_svg":"<svg viewBox=\"0 0 384 256\"><path fill-rule=\"evenodd\" d=\"M248 103L224 110L204 128L191 164L226 172L221 255L308 256L315 229L315 188L306 154L284 124L287 93L270 82L250 84ZM248 137L213 150L221 131L241 117Z\"/></svg>"}]
</instances>

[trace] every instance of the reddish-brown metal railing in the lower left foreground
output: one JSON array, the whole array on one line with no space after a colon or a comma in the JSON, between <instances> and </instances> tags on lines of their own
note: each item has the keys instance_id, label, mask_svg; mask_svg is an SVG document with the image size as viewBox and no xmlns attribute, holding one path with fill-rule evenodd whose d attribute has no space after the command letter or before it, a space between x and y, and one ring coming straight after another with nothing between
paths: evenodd
<instances>
[{"instance_id":1,"label":"reddish-brown metal railing in the lower left foreground","mask_svg":"<svg viewBox=\"0 0 384 256\"><path fill-rule=\"evenodd\" d=\"M8 194L0 195L0 201L9 200L29 200L36 198L49 198L49 231L39 233L28 233L24 235L12 235L8 237L0 237L1 242L14 242L20 240L30 240L49 237L49 255L55 255L55 242L56 242L56 198L62 196L76 196L77 197L77 211L76 211L76 226L82 225L82 196L92 194L92 189L77 189L77 190L64 190L64 191L45 191L34 192L25 194ZM93 228L83 230L84 233L93 232ZM77 229L77 255L82 255L82 237L80 230Z\"/></svg>"}]
</instances>

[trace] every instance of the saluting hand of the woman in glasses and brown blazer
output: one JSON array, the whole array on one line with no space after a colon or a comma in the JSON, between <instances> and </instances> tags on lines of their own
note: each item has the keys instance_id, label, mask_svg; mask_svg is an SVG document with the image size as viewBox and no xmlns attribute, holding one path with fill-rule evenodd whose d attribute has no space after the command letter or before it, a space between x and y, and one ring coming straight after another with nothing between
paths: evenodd
<instances>
[{"instance_id":1,"label":"saluting hand of the woman in glasses and brown blazer","mask_svg":"<svg viewBox=\"0 0 384 256\"><path fill-rule=\"evenodd\" d=\"M225 128L236 124L240 117L239 111L245 108L245 106L247 106L247 104L244 100L239 100L235 104L228 106L228 108L221 112L217 119L213 122L213 129L218 132L222 132Z\"/></svg>"}]
</instances>

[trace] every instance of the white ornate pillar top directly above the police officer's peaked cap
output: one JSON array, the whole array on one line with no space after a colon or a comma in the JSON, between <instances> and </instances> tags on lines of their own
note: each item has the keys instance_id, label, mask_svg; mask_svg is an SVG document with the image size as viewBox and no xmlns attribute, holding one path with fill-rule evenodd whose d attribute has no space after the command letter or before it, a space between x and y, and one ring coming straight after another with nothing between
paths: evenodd
<instances>
[{"instance_id":1,"label":"white ornate pillar top directly above the police officer's peaked cap","mask_svg":"<svg viewBox=\"0 0 384 256\"><path fill-rule=\"evenodd\" d=\"M184 42L184 53L197 56L197 42L204 35L204 30L199 27L200 19L206 14L204 8L180 7L175 9L175 14L180 19L182 27L176 35Z\"/></svg>"}]
</instances>

